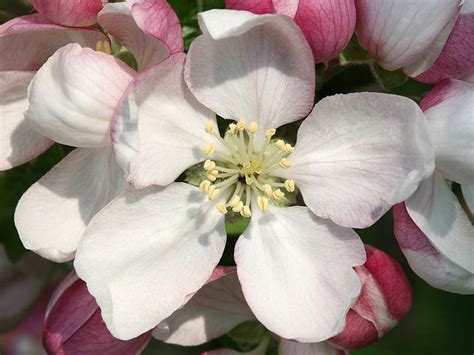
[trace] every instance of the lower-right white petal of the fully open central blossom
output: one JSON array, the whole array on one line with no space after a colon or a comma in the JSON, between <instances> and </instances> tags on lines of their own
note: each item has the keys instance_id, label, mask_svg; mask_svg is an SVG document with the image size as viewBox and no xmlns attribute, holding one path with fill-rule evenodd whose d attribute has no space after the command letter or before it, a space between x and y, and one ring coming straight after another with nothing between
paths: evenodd
<instances>
[{"instance_id":1,"label":"lower-right white petal of the fully open central blossom","mask_svg":"<svg viewBox=\"0 0 474 355\"><path fill-rule=\"evenodd\" d=\"M326 340L342 331L365 261L357 234L306 207L253 209L235 247L245 298L267 329L286 339Z\"/></svg>"}]
</instances>

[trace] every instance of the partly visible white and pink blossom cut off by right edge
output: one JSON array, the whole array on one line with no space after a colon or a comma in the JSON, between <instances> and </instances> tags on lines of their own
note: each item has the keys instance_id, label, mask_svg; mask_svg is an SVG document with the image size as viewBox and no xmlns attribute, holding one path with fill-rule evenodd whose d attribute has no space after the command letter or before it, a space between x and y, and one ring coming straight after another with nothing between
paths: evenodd
<instances>
[{"instance_id":1,"label":"partly visible white and pink blossom cut off by right edge","mask_svg":"<svg viewBox=\"0 0 474 355\"><path fill-rule=\"evenodd\" d=\"M474 292L474 228L446 179L474 183L474 84L446 79L421 102L436 157L434 174L394 209L395 236L412 269L431 286Z\"/></svg>"}]
</instances>

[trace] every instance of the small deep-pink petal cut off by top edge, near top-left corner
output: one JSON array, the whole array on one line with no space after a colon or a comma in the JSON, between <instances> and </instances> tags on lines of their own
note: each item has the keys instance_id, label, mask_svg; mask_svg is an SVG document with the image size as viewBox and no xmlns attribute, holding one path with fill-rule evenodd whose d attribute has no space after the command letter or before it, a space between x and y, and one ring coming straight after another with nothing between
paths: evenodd
<instances>
[{"instance_id":1,"label":"small deep-pink petal cut off by top edge, near top-left corner","mask_svg":"<svg viewBox=\"0 0 474 355\"><path fill-rule=\"evenodd\" d=\"M33 6L51 22L68 27L96 23L97 14L107 0L33 0Z\"/></svg>"}]
</instances>

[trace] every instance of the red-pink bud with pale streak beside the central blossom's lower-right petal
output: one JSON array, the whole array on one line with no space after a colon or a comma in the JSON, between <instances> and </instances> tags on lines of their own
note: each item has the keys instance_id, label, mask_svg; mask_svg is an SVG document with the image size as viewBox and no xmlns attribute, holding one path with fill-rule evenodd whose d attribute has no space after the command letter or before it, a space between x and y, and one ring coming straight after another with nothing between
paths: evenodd
<instances>
[{"instance_id":1,"label":"red-pink bud with pale streak beside the central blossom's lower-right petal","mask_svg":"<svg viewBox=\"0 0 474 355\"><path fill-rule=\"evenodd\" d=\"M356 267L362 289L346 317L342 333L331 338L347 350L365 347L388 333L410 310L412 290L403 269L392 257L365 246L367 261Z\"/></svg>"}]
</instances>

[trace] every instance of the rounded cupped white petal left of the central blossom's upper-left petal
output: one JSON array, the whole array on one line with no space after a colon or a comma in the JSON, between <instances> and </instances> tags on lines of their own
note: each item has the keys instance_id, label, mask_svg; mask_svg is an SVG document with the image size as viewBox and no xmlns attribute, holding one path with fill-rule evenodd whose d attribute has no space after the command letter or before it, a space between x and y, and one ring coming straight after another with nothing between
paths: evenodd
<instances>
[{"instance_id":1,"label":"rounded cupped white petal left of the central blossom's upper-left petal","mask_svg":"<svg viewBox=\"0 0 474 355\"><path fill-rule=\"evenodd\" d=\"M108 146L114 109L133 75L111 55L67 45L35 75L25 117L36 131L58 143Z\"/></svg>"}]
</instances>

